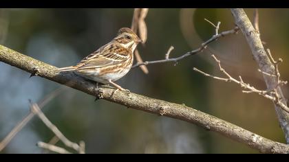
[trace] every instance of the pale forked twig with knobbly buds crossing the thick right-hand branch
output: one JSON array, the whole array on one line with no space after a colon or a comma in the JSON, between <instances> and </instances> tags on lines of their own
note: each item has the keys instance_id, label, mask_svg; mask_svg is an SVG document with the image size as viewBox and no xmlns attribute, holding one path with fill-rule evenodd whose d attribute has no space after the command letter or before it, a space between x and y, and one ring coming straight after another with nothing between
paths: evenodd
<instances>
[{"instance_id":1,"label":"pale forked twig with knobbly buds crossing the thick right-hand branch","mask_svg":"<svg viewBox=\"0 0 289 162\"><path fill-rule=\"evenodd\" d=\"M235 83L239 84L243 89L245 89L244 91L242 91L243 93L257 93L257 94L259 94L259 95L261 95L263 97L266 97L269 100L272 100L272 102L275 102L276 104L281 106L281 108L283 108L284 111L287 111L289 113L289 108L286 105L284 105L281 102L279 102L279 97L278 97L277 91L272 92L272 91L261 91L261 90L258 90L254 86L251 86L250 84L245 83L242 80L241 76L239 76L239 80L236 80L229 73L227 73L225 69L222 68L220 60L218 60L215 57L215 55L212 54L211 56L214 58L215 62L217 62L217 65L219 66L220 71L222 71L222 73L224 73L227 78L220 78L220 77L217 77L217 76L212 76L212 75L210 75L208 73L200 71L197 68L193 68L193 70L197 71L199 73L202 73L204 76L209 76L209 77L217 79L217 80L222 80L222 81L225 81L225 82L231 82L231 81L235 82Z\"/></svg>"}]
</instances>

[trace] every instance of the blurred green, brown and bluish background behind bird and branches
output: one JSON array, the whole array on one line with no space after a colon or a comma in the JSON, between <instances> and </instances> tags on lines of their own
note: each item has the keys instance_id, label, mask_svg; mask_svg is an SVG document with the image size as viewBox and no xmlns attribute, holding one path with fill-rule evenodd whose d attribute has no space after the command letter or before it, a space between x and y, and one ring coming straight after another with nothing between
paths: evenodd
<instances>
[{"instance_id":1,"label":"blurred green, brown and bluish background behind bird and branches","mask_svg":"<svg viewBox=\"0 0 289 162\"><path fill-rule=\"evenodd\" d=\"M253 9L245 10L250 19ZM108 43L120 27L131 27L133 9L1 9L0 43L56 67L75 65ZM282 17L282 21L280 21ZM281 78L289 78L288 9L260 9L261 39L275 58ZM143 60L159 60L171 45L171 57L197 49L215 34L208 22L221 21L220 32L231 30L233 16L227 9L149 9L147 43L138 45ZM265 89L242 32L211 43L210 51L237 78L242 76ZM178 62L148 65L149 73L131 69L117 81L133 93L186 104L284 143L272 102L257 94L244 94L234 83L206 78L193 71L222 76L208 50ZM28 100L39 102L64 87L0 62L0 141L30 112ZM288 98L288 86L283 87ZM71 141L85 141L87 153L257 153L242 143L169 117L136 111L81 91L62 88L45 104L43 112ZM0 153L41 153L38 141L54 134L34 117ZM63 146L58 142L58 146Z\"/></svg>"}]
</instances>

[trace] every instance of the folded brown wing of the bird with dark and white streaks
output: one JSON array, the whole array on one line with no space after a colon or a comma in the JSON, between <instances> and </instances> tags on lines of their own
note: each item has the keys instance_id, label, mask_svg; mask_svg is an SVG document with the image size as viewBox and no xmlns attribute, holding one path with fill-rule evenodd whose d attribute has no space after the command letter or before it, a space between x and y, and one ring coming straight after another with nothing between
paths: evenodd
<instances>
[{"instance_id":1,"label":"folded brown wing of the bird with dark and white streaks","mask_svg":"<svg viewBox=\"0 0 289 162\"><path fill-rule=\"evenodd\" d=\"M83 58L83 60L76 65L76 70L95 69L117 65L129 59L129 52L131 51L121 47L120 45L108 43L86 58Z\"/></svg>"}]
</instances>

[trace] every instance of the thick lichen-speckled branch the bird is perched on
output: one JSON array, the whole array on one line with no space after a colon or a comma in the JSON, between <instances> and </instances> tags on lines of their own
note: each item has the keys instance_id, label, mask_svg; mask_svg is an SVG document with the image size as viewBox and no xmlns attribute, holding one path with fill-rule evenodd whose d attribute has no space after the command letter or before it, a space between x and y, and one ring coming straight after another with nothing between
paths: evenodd
<instances>
[{"instance_id":1,"label":"thick lichen-speckled branch the bird is perched on","mask_svg":"<svg viewBox=\"0 0 289 162\"><path fill-rule=\"evenodd\" d=\"M95 82L85 80L74 73L64 72L56 74L54 73L56 67L20 54L2 45L0 45L0 61L28 71L28 73L34 73L36 76L58 82L59 84L65 84L110 102L196 124L206 130L212 130L235 141L245 143L250 148L259 150L259 152L289 153L289 146L286 144L266 139L239 126L202 113L194 108L184 106L183 104L174 104L126 91L116 91L114 93L115 89L105 87L101 87L99 91L96 91ZM114 96L112 96L113 93Z\"/></svg>"}]
</instances>

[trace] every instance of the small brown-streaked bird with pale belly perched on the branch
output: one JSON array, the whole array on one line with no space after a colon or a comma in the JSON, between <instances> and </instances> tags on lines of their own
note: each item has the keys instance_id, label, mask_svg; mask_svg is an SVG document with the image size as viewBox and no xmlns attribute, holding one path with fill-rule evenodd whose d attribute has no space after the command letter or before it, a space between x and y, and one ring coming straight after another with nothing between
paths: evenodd
<instances>
[{"instance_id":1,"label":"small brown-streaked bird with pale belly perched on the branch","mask_svg":"<svg viewBox=\"0 0 289 162\"><path fill-rule=\"evenodd\" d=\"M133 51L140 42L142 40L135 32L127 27L122 27L111 42L83 58L77 65L59 68L56 72L74 71L89 80L112 84L117 89L127 91L114 81L129 72L133 64Z\"/></svg>"}]
</instances>

